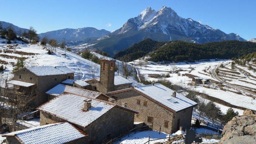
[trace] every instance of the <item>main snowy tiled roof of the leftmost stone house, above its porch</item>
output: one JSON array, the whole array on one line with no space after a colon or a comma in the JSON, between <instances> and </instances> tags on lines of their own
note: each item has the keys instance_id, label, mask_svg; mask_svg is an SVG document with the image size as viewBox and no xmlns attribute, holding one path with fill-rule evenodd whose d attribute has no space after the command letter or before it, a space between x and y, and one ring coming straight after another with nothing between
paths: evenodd
<instances>
[{"instance_id":1,"label":"main snowy tiled roof of the leftmost stone house, above its porch","mask_svg":"<svg viewBox=\"0 0 256 144\"><path fill-rule=\"evenodd\" d=\"M72 71L67 67L37 66L26 68L37 76L61 75L72 73Z\"/></svg>"}]
</instances>

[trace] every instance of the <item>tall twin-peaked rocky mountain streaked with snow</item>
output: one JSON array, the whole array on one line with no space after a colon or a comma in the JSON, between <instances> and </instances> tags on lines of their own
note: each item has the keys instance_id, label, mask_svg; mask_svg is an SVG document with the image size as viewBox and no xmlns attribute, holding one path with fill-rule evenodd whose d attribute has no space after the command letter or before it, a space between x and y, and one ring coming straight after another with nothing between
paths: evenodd
<instances>
[{"instance_id":1,"label":"tall twin-peaked rocky mountain streaked with snow","mask_svg":"<svg viewBox=\"0 0 256 144\"><path fill-rule=\"evenodd\" d=\"M137 17L128 19L120 29L94 42L93 48L103 49L113 55L146 38L157 41L182 40L195 43L223 40L245 41L238 34L227 34L219 29L200 24L191 18L182 18L171 8L163 6L158 11L151 7L146 8Z\"/></svg>"}]
</instances>

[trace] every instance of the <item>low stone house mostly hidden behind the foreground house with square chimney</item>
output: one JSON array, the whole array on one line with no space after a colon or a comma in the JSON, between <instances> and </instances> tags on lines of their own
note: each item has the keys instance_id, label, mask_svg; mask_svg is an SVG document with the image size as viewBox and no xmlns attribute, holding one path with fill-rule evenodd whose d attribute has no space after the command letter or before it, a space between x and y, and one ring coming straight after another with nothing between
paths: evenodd
<instances>
[{"instance_id":1,"label":"low stone house mostly hidden behind the foreground house with square chimney","mask_svg":"<svg viewBox=\"0 0 256 144\"><path fill-rule=\"evenodd\" d=\"M110 99L109 96L104 95L103 93L100 93L100 92L85 90L82 88L76 88L76 87L67 86L67 85L63 85L63 84L58 84L57 86L51 88L50 90L48 90L46 92L46 94L48 95L48 100L50 100L64 92L69 92L69 93L73 93L76 95L85 95L85 96L87 95L94 99L101 99L104 101L109 101L109 99Z\"/></svg>"}]
</instances>

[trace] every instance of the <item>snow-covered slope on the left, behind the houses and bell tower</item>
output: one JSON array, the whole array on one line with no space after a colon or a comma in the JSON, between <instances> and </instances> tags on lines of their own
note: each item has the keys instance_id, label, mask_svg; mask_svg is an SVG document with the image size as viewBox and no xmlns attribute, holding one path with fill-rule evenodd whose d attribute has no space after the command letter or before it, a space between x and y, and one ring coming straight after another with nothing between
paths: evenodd
<instances>
[{"instance_id":1,"label":"snow-covered slope on the left, behind the houses and bell tower","mask_svg":"<svg viewBox=\"0 0 256 144\"><path fill-rule=\"evenodd\" d=\"M66 56L62 55L65 54L65 51L62 51L61 49L55 49L53 50L54 54L47 54L47 49L44 48L41 45L8 45L8 49L6 49L6 45L2 44L1 42L5 41L4 39L0 39L0 59L1 62L0 65L7 62L7 64L4 64L6 66L6 70L3 71L2 74L0 74L2 79L5 78L11 78L13 77L12 71L13 71L13 65L12 63L17 63L18 57L26 57L25 60L25 66L67 66L71 70L75 72L75 79L90 79L90 63L92 63L89 60L86 60L84 58L81 58L81 56L78 56L76 54L73 54L71 52L66 51ZM13 46L10 48L10 46ZM49 47L48 47L49 48ZM49 48L50 49L50 48ZM8 50L7 53L4 53L4 50ZM35 55L26 55L23 54L15 54L20 52L27 52L27 53L35 53ZM4 55L9 55L11 57L6 57ZM13 57L16 56L16 57ZM96 77L99 77L99 65L97 65L97 71L95 74Z\"/></svg>"}]
</instances>

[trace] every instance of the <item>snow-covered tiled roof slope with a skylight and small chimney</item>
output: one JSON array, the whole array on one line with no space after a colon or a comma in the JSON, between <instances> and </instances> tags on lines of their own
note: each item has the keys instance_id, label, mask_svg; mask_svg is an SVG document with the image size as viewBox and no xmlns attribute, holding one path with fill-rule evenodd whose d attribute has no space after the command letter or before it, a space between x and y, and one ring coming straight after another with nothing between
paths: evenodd
<instances>
[{"instance_id":1,"label":"snow-covered tiled roof slope with a skylight and small chimney","mask_svg":"<svg viewBox=\"0 0 256 144\"><path fill-rule=\"evenodd\" d=\"M144 93L145 95L153 98L154 100L162 103L163 105L178 112L191 106L195 106L197 103L189 98L177 93L176 97L172 97L173 90L166 86L156 83L153 85L137 86L134 89Z\"/></svg>"}]
</instances>

